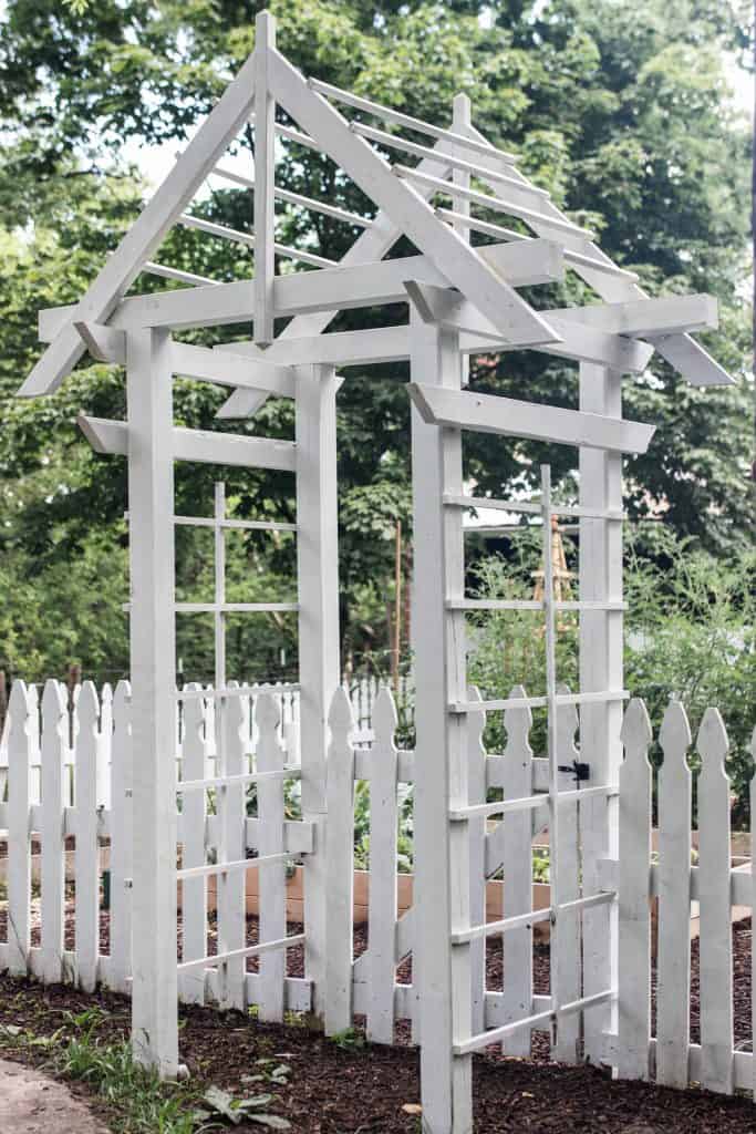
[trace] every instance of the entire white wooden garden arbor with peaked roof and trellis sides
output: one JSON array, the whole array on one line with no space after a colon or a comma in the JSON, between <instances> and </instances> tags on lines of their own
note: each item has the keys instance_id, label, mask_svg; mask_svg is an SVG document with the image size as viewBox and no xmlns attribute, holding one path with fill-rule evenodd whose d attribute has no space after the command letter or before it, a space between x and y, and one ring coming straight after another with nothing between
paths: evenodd
<instances>
[{"instance_id":1,"label":"entire white wooden garden arbor with peaked roof and trellis sides","mask_svg":"<svg viewBox=\"0 0 756 1134\"><path fill-rule=\"evenodd\" d=\"M277 107L295 125L279 122ZM351 120L339 108L349 108ZM364 121L364 116L382 126ZM255 129L255 168L254 177L247 178L226 170L222 155L249 121ZM413 138L424 136L426 144L407 138L407 133ZM277 187L277 146L288 144L331 158L374 202L375 215L357 215ZM385 154L399 154L401 163L391 163ZM407 158L417 163L410 168L404 163ZM211 175L254 187L249 232L232 231L188 211ZM484 188L472 187L473 179ZM283 246L275 239L277 200L326 213L362 232L338 263L307 248ZM478 219L478 208L501 213L501 223ZM512 219L521 222L519 228L508 227ZM175 225L254 248L254 278L216 282L153 261ZM474 235L490 243L474 246ZM417 253L384 259L401 236L411 240ZM311 270L277 274L277 257L305 263ZM600 302L536 311L518 291L560 280L568 270L577 272ZM128 296L142 272L190 286ZM409 304L408 323L323 333L340 310L402 301ZM292 316L291 321L277 335L274 321L284 316ZM172 332L187 328L244 320L254 324L254 337L247 342L211 350L172 338ZM49 345L19 391L24 397L53 392L87 350L127 371L127 421L82 416L80 425L95 449L128 459L135 777L133 1034L139 1059L156 1065L164 1075L178 1069L176 882L182 872L177 875L177 785L171 752L177 697L172 533L172 465L177 459L278 468L296 477L303 810L313 828L313 850L305 855L306 967L314 982L315 1008L325 1016L326 1029L338 1030L349 1018L341 1000L324 1001L323 992L326 958L334 956L334 949L343 953L351 947L329 939L326 911L328 712L340 679L335 371L394 359L409 359L411 365L415 572L423 581L415 590L413 626L416 902L422 926L415 954L424 1126L433 1134L472 1129L470 1052L504 1033L527 1036L533 1023L525 1016L492 1032L476 1033L472 1027L473 942L513 924L500 923L491 930L470 923L465 886L468 824L483 814L527 811L547 799L555 846L564 802L563 792L558 798L555 733L557 711L566 699L558 692L554 671L557 604L546 577L546 694L526 700L549 711L549 794L517 801L517 807L492 804L481 811L468 805L465 722L468 712L479 711L481 704L470 701L467 692L465 615L479 609L481 602L465 598L462 514L476 502L530 511L543 518L547 533L558 509L551 501L547 471L538 503L476 501L465 494L462 430L537 438L579 450L579 506L559 510L580 525L580 596L571 603L580 618L580 691L569 703L581 705L581 759L592 769L592 786L580 795L584 889L588 891L579 900L585 975L577 998L560 997L555 989L547 1015L554 1024L581 1015L586 1053L601 1059L603 1032L611 1024L617 999L617 936L610 932L614 894L601 889L598 865L602 858L617 855L619 725L626 696L621 460L626 451L644 451L653 432L648 425L622 418L621 381L623 374L642 373L656 349L696 386L728 383L721 366L690 337L693 331L715 325L716 303L711 296L648 298L631 272L615 265L589 231L570 221L518 170L513 154L494 147L473 127L464 95L455 100L451 128L421 122L305 78L277 50L272 17L266 12L257 17L254 53L87 293L75 306L40 313L40 338ZM523 348L579 363L579 411L462 389L466 356ZM224 418L254 415L271 395L294 398L296 441L176 428L175 374L229 387L232 392L220 412ZM550 562L546 555L545 564ZM222 619L228 608L222 595L211 606L222 654ZM269 609L275 607L272 603ZM222 667L219 671L224 672ZM493 711L512 703L508 699L487 708ZM236 781L229 779L233 776ZM227 780L229 798L240 790L235 769L223 765L221 778ZM226 894L232 902L245 865L233 861L232 833L224 847L223 863L201 869L221 875L221 900ZM280 850L267 856L271 863L291 855ZM261 861L265 856L256 860ZM559 941L560 917L566 911L574 915L578 906L560 904L559 863L552 869L555 896L550 916ZM244 964L245 955L260 951L260 947L245 948L243 925L240 934L220 943L221 976L223 966ZM287 947L280 939L263 943L281 957ZM223 1002L222 979L219 988Z\"/></svg>"}]
</instances>

